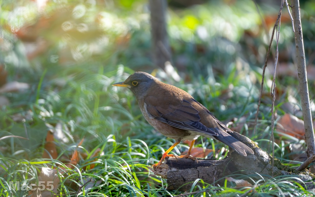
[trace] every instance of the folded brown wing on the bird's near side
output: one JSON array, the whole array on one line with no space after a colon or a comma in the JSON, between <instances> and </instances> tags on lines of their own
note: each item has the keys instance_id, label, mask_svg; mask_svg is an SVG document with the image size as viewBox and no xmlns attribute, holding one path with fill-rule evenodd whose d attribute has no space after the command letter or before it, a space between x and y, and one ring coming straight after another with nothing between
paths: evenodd
<instances>
[{"instance_id":1,"label":"folded brown wing on the bird's near side","mask_svg":"<svg viewBox=\"0 0 315 197\"><path fill-rule=\"evenodd\" d=\"M161 105L162 103L164 105ZM218 134L206 127L200 122L199 111L192 106L195 102L193 98L179 99L177 101L169 101L165 104L167 97L147 96L145 99L146 110L152 118L160 122L174 126L183 130L192 130L207 135L218 136Z\"/></svg>"}]
</instances>

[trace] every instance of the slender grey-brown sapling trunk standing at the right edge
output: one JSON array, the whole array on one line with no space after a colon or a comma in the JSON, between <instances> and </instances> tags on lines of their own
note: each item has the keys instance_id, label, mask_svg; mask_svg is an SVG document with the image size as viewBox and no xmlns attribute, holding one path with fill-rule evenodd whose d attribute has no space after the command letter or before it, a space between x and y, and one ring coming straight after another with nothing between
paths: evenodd
<instances>
[{"instance_id":1,"label":"slender grey-brown sapling trunk standing at the right edge","mask_svg":"<svg viewBox=\"0 0 315 197\"><path fill-rule=\"evenodd\" d=\"M303 35L302 35L302 25L301 25L301 14L300 14L300 3L299 0L291 0L292 6L292 16L294 24L294 37L295 37L295 47L296 47L296 63L298 70L298 79L300 84L300 95L301 95L301 106L304 119L305 128L305 139L307 144L307 156L311 158L315 154L315 137L312 124L312 114L310 107L310 99L308 94L307 86L307 76L306 76L306 63L305 63L305 53L303 45ZM309 159L307 160L308 162ZM310 163L308 163L310 164ZM297 170L303 170L308 164L301 165ZM315 172L314 166L311 167L311 172Z\"/></svg>"}]
</instances>

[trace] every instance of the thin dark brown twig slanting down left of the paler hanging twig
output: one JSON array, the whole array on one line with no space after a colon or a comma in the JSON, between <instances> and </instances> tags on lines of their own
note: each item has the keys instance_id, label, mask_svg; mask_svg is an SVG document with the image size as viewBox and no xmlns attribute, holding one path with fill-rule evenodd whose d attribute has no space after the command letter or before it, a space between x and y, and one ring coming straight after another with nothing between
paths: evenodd
<instances>
[{"instance_id":1,"label":"thin dark brown twig slanting down left of the paler hanging twig","mask_svg":"<svg viewBox=\"0 0 315 197\"><path fill-rule=\"evenodd\" d=\"M278 13L278 18L277 18L277 20L276 20L276 22L275 22L275 25L273 26L273 29L272 29L272 34L271 34L271 38L270 38L270 43L269 43L269 47L268 47L268 52L267 52L267 54L266 54L265 65L264 65L264 68L263 68L263 70L262 70L262 79L261 79L260 95L259 95L259 100L258 100L258 107L257 107L257 112L256 112L256 117L255 117L255 123L254 123L254 133L256 132L256 125L257 125L259 107L260 107L260 104L261 104L262 89L263 89L263 87L264 87L265 71L266 71L267 62L268 62L269 55L270 55L271 44L272 44L273 36L274 36L274 33L275 33L275 29L276 29L276 27L278 26L278 21L279 21L279 19L280 19L280 17L281 17L282 8L283 8L283 2L282 2L281 8L280 8L279 13Z\"/></svg>"}]
</instances>

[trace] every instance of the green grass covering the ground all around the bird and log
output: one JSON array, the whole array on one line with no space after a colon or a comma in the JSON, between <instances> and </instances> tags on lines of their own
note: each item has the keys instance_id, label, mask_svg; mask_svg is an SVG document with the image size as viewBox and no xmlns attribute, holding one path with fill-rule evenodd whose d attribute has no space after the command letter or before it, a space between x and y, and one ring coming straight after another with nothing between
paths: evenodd
<instances>
[{"instance_id":1,"label":"green grass covering the ground all around the bird and log","mask_svg":"<svg viewBox=\"0 0 315 197\"><path fill-rule=\"evenodd\" d=\"M23 6L28 3L19 1L18 4ZM129 90L111 86L123 81L135 70L152 72L156 68L150 57L150 27L145 1L131 4L115 1L106 6L89 3L83 5L86 6L84 17L64 20L74 24L88 24L91 32L85 34L87 38L83 36L84 38L72 41L65 40L64 34L58 34L62 31L57 25L38 35L48 40L50 45L33 60L27 59L24 43L16 35L6 29L0 30L5 46L1 49L0 62L8 72L7 81L30 85L27 90L2 93L10 104L0 106L0 196L27 196L28 190L16 191L10 183L37 183L42 167L65 169L58 175L58 194L63 196L314 195L307 190L312 183L308 185L295 177L269 177L258 173L243 176L241 172L230 177L246 179L252 187L241 189L227 181L224 185L209 185L203 183L203 180L196 180L186 193L167 190L167 180L154 175L151 166L158 162L174 140L162 136L148 125ZM32 6L34 5L30 5L31 8ZM77 4L51 3L45 11L54 13L59 6L75 7ZM17 7L14 3L4 3L1 6L4 13L0 15L1 25L10 25L11 19L6 14ZM307 36L304 37L308 47L306 51L312 54L314 28L311 15L307 14L311 12L309 9L312 3L301 7L306 12L303 20L308 24L305 29ZM272 12L269 8L270 6L266 9L261 5L263 11ZM178 66L181 79L176 82L172 78L165 78L165 73L160 70L155 70L157 76L192 94L224 122L244 118L240 132L268 151L271 146L271 97L268 96L270 88L266 85L271 78L269 74L265 76L256 133L252 133L265 53L255 56L249 46L254 45L260 51L266 48L263 31L256 37L244 34L260 26L254 3L249 0L232 5L209 2L191 8L170 9L170 43L174 64ZM104 16L120 28L103 26ZM209 22L215 19L220 19L231 31L217 29L216 23ZM27 24L27 21L24 22ZM285 34L280 48L284 50L293 43L291 33L285 31L290 25L281 24ZM211 36L200 37L198 28L206 29ZM95 29L101 33L97 32L95 36ZM125 41L119 42L119 39ZM89 49L100 52L92 53ZM81 53L83 58L72 55L73 51L77 55ZM57 62L51 61L54 57L58 57ZM79 59L73 59L74 57ZM61 61L62 58L65 60ZM286 112L283 104L289 101L288 96L299 100L298 83L292 76L277 77L276 83L280 93L276 97L275 110L281 116ZM313 84L314 80L309 80L309 83ZM311 98L313 90L310 85ZM300 106L299 103L296 105ZM236 121L232 126L238 123ZM54 132L53 143L58 153L56 159L42 159L49 130ZM294 168L300 162L290 158L293 153L288 152L289 145L303 142L292 136L278 134L276 131L275 136L279 141L275 143L275 156L285 165ZM29 140L6 136L20 136ZM77 148L83 137L83 144ZM195 146L217 151L221 149L216 159L226 156L227 146L212 139L199 138ZM85 158L80 159L76 166L68 168L66 164L70 163L76 149ZM180 155L186 149L188 146L180 143L171 153ZM93 157L98 150L100 154ZM213 155L207 157L213 158ZM80 187L90 179L91 182ZM250 191L252 189L254 190Z\"/></svg>"}]
</instances>

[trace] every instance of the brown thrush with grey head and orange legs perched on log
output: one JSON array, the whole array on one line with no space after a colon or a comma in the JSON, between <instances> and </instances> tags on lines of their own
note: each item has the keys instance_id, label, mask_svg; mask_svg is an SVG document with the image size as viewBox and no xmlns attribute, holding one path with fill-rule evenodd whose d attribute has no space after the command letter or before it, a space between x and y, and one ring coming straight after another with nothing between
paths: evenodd
<instances>
[{"instance_id":1,"label":"brown thrush with grey head and orange legs perched on log","mask_svg":"<svg viewBox=\"0 0 315 197\"><path fill-rule=\"evenodd\" d=\"M176 86L165 84L146 72L135 72L125 81L112 85L129 88L146 121L162 135L175 139L160 161L152 165L154 169L163 163L165 157L196 160L190 153L199 136L219 140L244 157L247 156L246 152L254 154L251 148L231 136L229 132L232 130L216 119L206 107ZM181 140L192 141L187 154L169 154Z\"/></svg>"}]
</instances>

